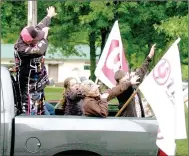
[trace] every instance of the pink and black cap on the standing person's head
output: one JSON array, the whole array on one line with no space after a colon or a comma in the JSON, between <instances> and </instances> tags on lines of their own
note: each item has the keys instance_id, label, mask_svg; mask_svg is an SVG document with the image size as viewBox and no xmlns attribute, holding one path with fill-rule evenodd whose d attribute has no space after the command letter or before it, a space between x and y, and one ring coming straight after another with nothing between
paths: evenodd
<instances>
[{"instance_id":1,"label":"pink and black cap on the standing person's head","mask_svg":"<svg viewBox=\"0 0 189 156\"><path fill-rule=\"evenodd\" d=\"M24 42L30 42L33 40L40 41L43 39L45 32L39 29L36 29L34 26L27 26L22 29L21 31L21 37L24 40Z\"/></svg>"}]
</instances>

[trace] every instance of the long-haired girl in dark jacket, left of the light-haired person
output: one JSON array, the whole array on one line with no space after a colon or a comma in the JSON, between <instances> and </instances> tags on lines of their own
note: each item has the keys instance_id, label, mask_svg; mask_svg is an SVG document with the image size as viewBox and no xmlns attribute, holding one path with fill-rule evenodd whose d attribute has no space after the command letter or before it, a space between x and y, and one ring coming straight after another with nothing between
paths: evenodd
<instances>
[{"instance_id":1,"label":"long-haired girl in dark jacket, left of the light-haired person","mask_svg":"<svg viewBox=\"0 0 189 156\"><path fill-rule=\"evenodd\" d=\"M82 103L84 95L80 84L73 77L68 77L64 81L63 97L59 104L64 115L83 115Z\"/></svg>"}]
</instances>

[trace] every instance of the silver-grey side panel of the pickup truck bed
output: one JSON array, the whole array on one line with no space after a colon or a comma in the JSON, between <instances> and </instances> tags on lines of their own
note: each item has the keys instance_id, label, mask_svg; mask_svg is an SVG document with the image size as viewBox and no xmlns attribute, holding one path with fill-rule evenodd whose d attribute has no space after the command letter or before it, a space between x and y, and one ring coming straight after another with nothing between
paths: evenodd
<instances>
[{"instance_id":1,"label":"silver-grey side panel of the pickup truck bed","mask_svg":"<svg viewBox=\"0 0 189 156\"><path fill-rule=\"evenodd\" d=\"M157 155L158 123L152 118L18 116L15 155L86 150L102 156Z\"/></svg>"}]
</instances>

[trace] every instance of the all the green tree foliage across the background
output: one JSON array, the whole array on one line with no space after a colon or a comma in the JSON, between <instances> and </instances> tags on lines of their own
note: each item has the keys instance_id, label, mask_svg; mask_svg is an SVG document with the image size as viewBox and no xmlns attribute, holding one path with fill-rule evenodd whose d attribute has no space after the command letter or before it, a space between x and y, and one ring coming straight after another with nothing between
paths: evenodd
<instances>
[{"instance_id":1,"label":"all the green tree foliage across the background","mask_svg":"<svg viewBox=\"0 0 189 156\"><path fill-rule=\"evenodd\" d=\"M152 44L156 43L152 68L178 36L181 37L179 48L183 68L188 64L187 2L38 1L38 21L46 15L45 8L50 5L55 6L58 12L52 19L49 32L51 46L59 48L63 56L69 56L82 55L75 51L75 45L88 44L93 80L96 48L103 50L115 20L119 22L130 68L139 67ZM13 43L27 23L27 2L2 2L1 11L3 41ZM55 52L53 49L52 53Z\"/></svg>"}]
</instances>

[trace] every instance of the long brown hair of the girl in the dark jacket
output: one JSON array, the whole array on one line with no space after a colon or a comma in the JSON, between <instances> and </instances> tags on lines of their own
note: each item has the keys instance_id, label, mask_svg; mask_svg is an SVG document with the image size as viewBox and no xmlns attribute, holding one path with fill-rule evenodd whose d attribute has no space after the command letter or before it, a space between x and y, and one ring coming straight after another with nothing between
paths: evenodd
<instances>
[{"instance_id":1,"label":"long brown hair of the girl in the dark jacket","mask_svg":"<svg viewBox=\"0 0 189 156\"><path fill-rule=\"evenodd\" d=\"M63 93L62 93L62 99L60 100L60 105L62 107L62 109L64 110L65 109L65 103L66 103L66 98L65 98L65 94L70 91L70 81L72 79L75 79L73 77L68 77L64 80L64 90L63 90Z\"/></svg>"}]
</instances>

